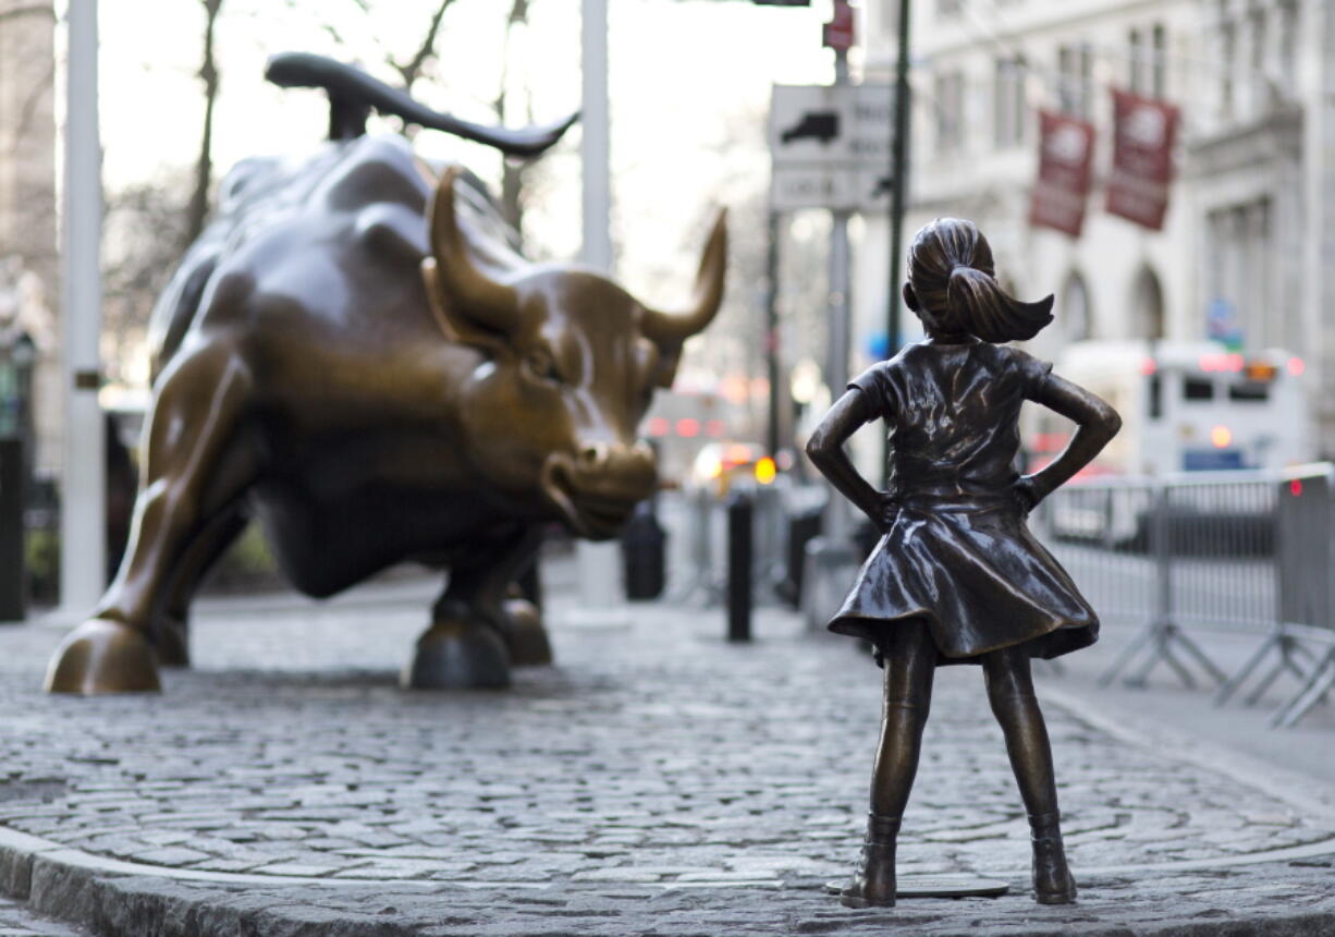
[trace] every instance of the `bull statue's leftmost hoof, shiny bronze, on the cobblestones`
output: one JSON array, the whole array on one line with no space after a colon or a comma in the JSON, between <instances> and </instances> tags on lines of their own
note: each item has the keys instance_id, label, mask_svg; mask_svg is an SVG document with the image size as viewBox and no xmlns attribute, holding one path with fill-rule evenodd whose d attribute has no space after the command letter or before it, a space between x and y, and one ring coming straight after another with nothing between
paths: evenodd
<instances>
[{"instance_id":1,"label":"bull statue's leftmost hoof, shiny bronze, on the cobblestones","mask_svg":"<svg viewBox=\"0 0 1335 937\"><path fill-rule=\"evenodd\" d=\"M158 692L158 663L143 631L95 618L65 635L47 667L47 692Z\"/></svg>"}]
</instances>

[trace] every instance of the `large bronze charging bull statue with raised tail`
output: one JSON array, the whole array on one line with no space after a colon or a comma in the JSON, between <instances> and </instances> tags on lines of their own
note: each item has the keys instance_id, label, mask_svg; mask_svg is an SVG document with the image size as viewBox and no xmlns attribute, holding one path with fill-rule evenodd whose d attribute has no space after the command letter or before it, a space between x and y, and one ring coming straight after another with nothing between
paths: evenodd
<instances>
[{"instance_id":1,"label":"large bronze charging bull statue with raised tail","mask_svg":"<svg viewBox=\"0 0 1335 937\"><path fill-rule=\"evenodd\" d=\"M374 106L535 155L570 122L479 128L314 56L270 78L328 91L331 140L238 166L160 298L131 541L47 688L158 690L160 663L188 662L195 587L252 517L311 596L402 560L447 567L405 683L503 687L550 660L531 607L507 603L541 527L607 539L654 489L637 426L718 310L724 217L689 309L653 309L526 261L466 172L362 132Z\"/></svg>"}]
</instances>

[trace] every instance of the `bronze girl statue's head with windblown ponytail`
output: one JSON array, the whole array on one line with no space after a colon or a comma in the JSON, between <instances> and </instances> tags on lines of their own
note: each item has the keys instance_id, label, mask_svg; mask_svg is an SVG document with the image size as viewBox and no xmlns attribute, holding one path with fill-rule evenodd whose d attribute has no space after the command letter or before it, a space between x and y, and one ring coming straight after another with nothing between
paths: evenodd
<instances>
[{"instance_id":1,"label":"bronze girl statue's head with windblown ponytail","mask_svg":"<svg viewBox=\"0 0 1335 937\"><path fill-rule=\"evenodd\" d=\"M997 283L992 247L973 222L937 218L909 246L909 283L930 326L988 342L1033 338L1052 322L1052 297L1021 302Z\"/></svg>"}]
</instances>

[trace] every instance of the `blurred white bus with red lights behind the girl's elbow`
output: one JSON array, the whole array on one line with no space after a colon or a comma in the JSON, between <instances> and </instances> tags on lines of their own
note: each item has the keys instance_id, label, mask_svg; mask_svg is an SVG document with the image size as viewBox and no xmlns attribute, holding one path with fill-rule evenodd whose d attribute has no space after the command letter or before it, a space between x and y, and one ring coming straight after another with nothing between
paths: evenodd
<instances>
[{"instance_id":1,"label":"blurred white bus with red lights behind the girl's elbow","mask_svg":"<svg viewBox=\"0 0 1335 937\"><path fill-rule=\"evenodd\" d=\"M1306 366L1288 352L1088 341L1069 345L1053 370L1107 400L1123 418L1121 432L1083 477L1275 469L1316 456ZM1032 472L1061 452L1073 428L1051 410L1027 409Z\"/></svg>"}]
</instances>

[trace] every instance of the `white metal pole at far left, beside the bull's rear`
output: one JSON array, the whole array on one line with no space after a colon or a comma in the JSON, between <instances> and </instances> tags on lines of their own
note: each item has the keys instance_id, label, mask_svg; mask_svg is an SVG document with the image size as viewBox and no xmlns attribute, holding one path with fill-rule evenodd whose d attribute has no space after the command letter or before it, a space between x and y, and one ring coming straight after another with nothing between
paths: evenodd
<instances>
[{"instance_id":1,"label":"white metal pole at far left, beside the bull's rear","mask_svg":"<svg viewBox=\"0 0 1335 937\"><path fill-rule=\"evenodd\" d=\"M60 604L87 616L105 581L101 376L101 143L97 134L97 0L71 0L63 234L64 471Z\"/></svg>"}]
</instances>

